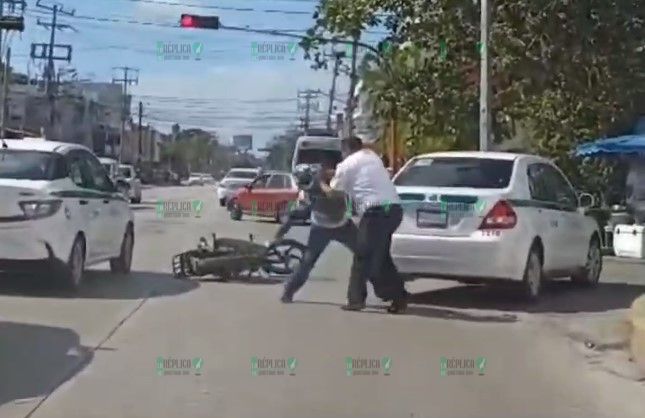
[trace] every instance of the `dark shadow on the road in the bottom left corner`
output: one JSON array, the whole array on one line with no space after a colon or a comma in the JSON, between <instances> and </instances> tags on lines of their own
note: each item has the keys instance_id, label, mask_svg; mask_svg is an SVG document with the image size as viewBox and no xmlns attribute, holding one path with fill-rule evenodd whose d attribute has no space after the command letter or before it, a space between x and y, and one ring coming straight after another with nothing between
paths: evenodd
<instances>
[{"instance_id":1,"label":"dark shadow on the road in the bottom left corner","mask_svg":"<svg viewBox=\"0 0 645 418\"><path fill-rule=\"evenodd\" d=\"M47 395L93 357L69 328L0 322L0 405Z\"/></svg>"}]
</instances>

